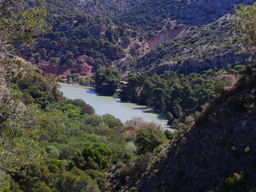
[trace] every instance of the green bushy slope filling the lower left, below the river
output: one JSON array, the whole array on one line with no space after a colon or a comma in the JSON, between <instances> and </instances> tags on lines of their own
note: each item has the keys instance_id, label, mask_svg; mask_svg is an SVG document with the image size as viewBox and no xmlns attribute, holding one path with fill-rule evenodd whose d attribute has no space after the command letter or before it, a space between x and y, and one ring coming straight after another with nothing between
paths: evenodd
<instances>
[{"instance_id":1,"label":"green bushy slope filling the lower left, below the river","mask_svg":"<svg viewBox=\"0 0 256 192\"><path fill-rule=\"evenodd\" d=\"M33 18L33 12L27 14ZM16 28L9 32L16 44ZM110 190L107 170L141 155L136 152L141 142L135 142L139 129L158 132L151 152L167 141L154 123L124 125L112 115L95 115L82 100L63 98L55 76L7 51L0 69L0 191Z\"/></svg>"}]
</instances>

